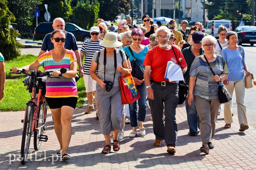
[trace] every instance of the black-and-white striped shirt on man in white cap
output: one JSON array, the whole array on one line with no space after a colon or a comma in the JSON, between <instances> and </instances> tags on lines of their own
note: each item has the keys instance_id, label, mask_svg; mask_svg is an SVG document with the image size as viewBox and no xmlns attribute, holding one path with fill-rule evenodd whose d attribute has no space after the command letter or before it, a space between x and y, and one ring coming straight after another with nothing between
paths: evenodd
<instances>
[{"instance_id":1,"label":"black-and-white striped shirt on man in white cap","mask_svg":"<svg viewBox=\"0 0 256 170\"><path fill-rule=\"evenodd\" d=\"M105 48L104 46L100 45L100 41L92 41L92 39L88 39L84 41L84 44L81 49L81 53L85 54L84 58L84 74L90 75L90 68L92 64L92 57L93 54L101 49Z\"/></svg>"}]
</instances>

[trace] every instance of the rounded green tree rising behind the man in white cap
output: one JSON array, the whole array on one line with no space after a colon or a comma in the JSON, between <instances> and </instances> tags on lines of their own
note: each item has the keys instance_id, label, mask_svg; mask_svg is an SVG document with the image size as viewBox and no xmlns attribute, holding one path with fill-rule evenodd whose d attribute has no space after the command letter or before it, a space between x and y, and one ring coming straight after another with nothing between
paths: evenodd
<instances>
[{"instance_id":1,"label":"rounded green tree rising behind the man in white cap","mask_svg":"<svg viewBox=\"0 0 256 170\"><path fill-rule=\"evenodd\" d=\"M70 16L70 22L89 30L96 19L100 9L100 3L81 0L77 2L76 7L73 10L73 14Z\"/></svg>"}]
</instances>

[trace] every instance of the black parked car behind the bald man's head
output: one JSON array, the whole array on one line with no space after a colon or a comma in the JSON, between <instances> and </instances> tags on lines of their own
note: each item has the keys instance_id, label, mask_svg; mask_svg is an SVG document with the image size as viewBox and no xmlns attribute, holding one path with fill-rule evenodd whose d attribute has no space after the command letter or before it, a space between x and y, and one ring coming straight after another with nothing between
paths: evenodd
<instances>
[{"instance_id":1,"label":"black parked car behind the bald man's head","mask_svg":"<svg viewBox=\"0 0 256 170\"><path fill-rule=\"evenodd\" d=\"M53 31L52 22L41 22L35 28L35 35L33 36L35 40L43 40L45 35ZM65 23L65 30L74 34L76 41L84 42L91 38L90 31L80 28L76 24Z\"/></svg>"}]
</instances>

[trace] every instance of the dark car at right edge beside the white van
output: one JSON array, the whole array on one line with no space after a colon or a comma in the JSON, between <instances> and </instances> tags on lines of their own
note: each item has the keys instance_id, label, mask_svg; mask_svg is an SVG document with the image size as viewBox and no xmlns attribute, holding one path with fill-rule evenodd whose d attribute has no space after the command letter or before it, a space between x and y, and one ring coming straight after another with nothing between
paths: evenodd
<instances>
[{"instance_id":1,"label":"dark car at right edge beside the white van","mask_svg":"<svg viewBox=\"0 0 256 170\"><path fill-rule=\"evenodd\" d=\"M256 26L238 26L235 29L235 32L237 33L237 43L239 46L242 44L253 44L256 43Z\"/></svg>"}]
</instances>

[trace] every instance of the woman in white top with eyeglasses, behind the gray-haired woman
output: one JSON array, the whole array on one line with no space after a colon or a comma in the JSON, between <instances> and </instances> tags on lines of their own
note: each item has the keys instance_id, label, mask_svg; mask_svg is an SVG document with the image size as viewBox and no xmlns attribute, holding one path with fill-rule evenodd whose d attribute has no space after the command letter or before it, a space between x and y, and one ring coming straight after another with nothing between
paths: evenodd
<instances>
[{"instance_id":1,"label":"woman in white top with eyeglasses, behind the gray-haired woman","mask_svg":"<svg viewBox=\"0 0 256 170\"><path fill-rule=\"evenodd\" d=\"M228 33L228 29L223 26L220 25L219 29L218 29L218 35L219 35L219 39L216 39L216 50L215 50L215 54L219 54L221 53L222 48L229 46L229 43L226 39L226 35Z\"/></svg>"}]
</instances>

